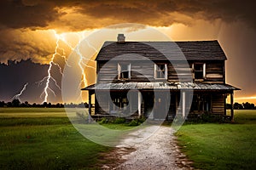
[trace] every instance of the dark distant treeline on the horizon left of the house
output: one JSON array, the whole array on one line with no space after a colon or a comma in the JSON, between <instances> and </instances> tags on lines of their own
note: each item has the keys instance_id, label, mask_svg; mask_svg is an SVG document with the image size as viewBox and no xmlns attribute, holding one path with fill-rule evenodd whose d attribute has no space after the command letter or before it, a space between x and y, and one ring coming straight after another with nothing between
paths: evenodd
<instances>
[{"instance_id":1,"label":"dark distant treeline on the horizon left of the house","mask_svg":"<svg viewBox=\"0 0 256 170\"><path fill-rule=\"evenodd\" d=\"M64 107L68 107L68 108L75 108L75 107L80 107L80 108L88 108L89 105L85 102L85 103L80 103L80 104L51 104L51 103L47 103L44 102L43 104L30 104L27 101L21 103L19 99L13 99L13 101L11 102L7 102L5 103L4 101L0 101L0 107L47 107L47 108L64 108Z\"/></svg>"}]
</instances>

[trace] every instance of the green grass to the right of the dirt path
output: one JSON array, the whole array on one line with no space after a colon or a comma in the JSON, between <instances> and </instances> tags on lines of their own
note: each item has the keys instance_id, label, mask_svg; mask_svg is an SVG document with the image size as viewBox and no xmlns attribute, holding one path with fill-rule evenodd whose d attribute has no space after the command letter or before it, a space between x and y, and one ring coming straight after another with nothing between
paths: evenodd
<instances>
[{"instance_id":1,"label":"green grass to the right of the dirt path","mask_svg":"<svg viewBox=\"0 0 256 170\"><path fill-rule=\"evenodd\" d=\"M256 167L256 111L235 111L234 124L186 124L176 133L183 152L201 169Z\"/></svg>"}]
</instances>

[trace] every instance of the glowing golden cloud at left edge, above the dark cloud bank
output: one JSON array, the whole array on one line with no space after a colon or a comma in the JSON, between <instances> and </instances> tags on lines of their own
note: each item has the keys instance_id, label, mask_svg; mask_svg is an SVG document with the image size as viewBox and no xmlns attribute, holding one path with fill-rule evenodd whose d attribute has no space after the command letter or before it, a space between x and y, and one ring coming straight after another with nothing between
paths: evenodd
<instances>
[{"instance_id":1,"label":"glowing golden cloud at left edge, above the dark cloud bank","mask_svg":"<svg viewBox=\"0 0 256 170\"><path fill-rule=\"evenodd\" d=\"M45 63L55 52L54 33L49 31L0 31L0 61L29 59Z\"/></svg>"}]
</instances>

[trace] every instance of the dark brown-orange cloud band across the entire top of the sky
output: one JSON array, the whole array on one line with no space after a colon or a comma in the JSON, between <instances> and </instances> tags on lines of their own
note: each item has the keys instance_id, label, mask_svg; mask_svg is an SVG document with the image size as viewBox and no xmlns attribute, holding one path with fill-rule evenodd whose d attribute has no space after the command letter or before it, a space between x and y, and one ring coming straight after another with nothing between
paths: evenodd
<instances>
[{"instance_id":1,"label":"dark brown-orange cloud band across the entire top of the sky","mask_svg":"<svg viewBox=\"0 0 256 170\"><path fill-rule=\"evenodd\" d=\"M64 26L81 31L120 22L171 26L174 22L193 24L196 19L221 19L227 22L242 20L256 28L253 4L252 0L3 0L0 2L0 25L31 29ZM189 20L180 19L178 14L188 16Z\"/></svg>"}]
</instances>

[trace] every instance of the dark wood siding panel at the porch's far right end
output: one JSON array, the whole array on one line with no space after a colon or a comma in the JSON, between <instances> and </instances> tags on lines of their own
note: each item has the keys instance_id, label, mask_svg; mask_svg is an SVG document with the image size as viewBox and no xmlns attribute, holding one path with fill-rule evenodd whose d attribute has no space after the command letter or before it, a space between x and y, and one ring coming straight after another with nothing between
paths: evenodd
<instances>
[{"instance_id":1,"label":"dark wood siding panel at the porch's far right end","mask_svg":"<svg viewBox=\"0 0 256 170\"><path fill-rule=\"evenodd\" d=\"M224 114L224 94L212 94L212 114Z\"/></svg>"}]
</instances>

